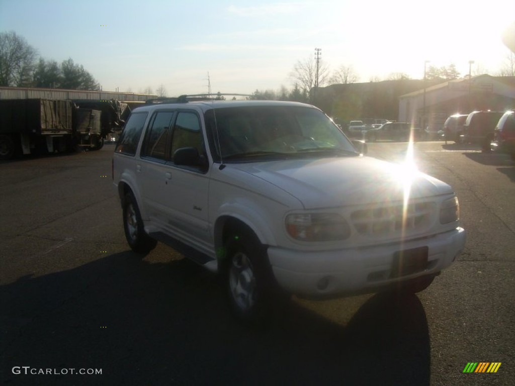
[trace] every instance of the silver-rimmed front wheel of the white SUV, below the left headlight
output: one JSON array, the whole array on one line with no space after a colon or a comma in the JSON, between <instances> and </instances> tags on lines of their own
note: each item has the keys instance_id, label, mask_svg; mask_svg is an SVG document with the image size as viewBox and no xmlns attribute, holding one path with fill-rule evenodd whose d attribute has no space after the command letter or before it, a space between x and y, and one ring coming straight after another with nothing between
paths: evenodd
<instances>
[{"instance_id":1,"label":"silver-rimmed front wheel of the white SUV, below the left headlight","mask_svg":"<svg viewBox=\"0 0 515 386\"><path fill-rule=\"evenodd\" d=\"M229 234L225 250L223 270L231 310L246 324L263 323L274 288L265 248L250 230L242 228Z\"/></svg>"}]
</instances>

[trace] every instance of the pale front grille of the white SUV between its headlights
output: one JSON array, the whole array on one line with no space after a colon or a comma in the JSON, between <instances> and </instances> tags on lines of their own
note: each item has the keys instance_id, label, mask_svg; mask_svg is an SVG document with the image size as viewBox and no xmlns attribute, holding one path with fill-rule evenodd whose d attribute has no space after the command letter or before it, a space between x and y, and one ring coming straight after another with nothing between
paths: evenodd
<instances>
[{"instance_id":1,"label":"pale front grille of the white SUV between its headlights","mask_svg":"<svg viewBox=\"0 0 515 386\"><path fill-rule=\"evenodd\" d=\"M424 231L436 213L434 202L377 205L352 212L357 233L369 237L405 237Z\"/></svg>"}]
</instances>

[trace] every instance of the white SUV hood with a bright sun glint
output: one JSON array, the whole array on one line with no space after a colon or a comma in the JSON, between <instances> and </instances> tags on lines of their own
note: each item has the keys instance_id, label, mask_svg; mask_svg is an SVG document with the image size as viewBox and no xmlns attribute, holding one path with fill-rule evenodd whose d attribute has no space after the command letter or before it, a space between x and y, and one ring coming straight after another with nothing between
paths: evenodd
<instances>
[{"instance_id":1,"label":"white SUV hood with a bright sun glint","mask_svg":"<svg viewBox=\"0 0 515 386\"><path fill-rule=\"evenodd\" d=\"M442 181L371 157L286 160L234 165L300 200L306 209L451 194Z\"/></svg>"}]
</instances>

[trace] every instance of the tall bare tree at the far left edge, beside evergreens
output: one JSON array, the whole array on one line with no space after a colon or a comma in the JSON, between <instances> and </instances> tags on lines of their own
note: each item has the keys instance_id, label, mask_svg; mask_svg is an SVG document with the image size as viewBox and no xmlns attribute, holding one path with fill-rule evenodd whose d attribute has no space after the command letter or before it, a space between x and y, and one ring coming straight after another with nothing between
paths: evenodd
<instances>
[{"instance_id":1,"label":"tall bare tree at the far left edge, beside evergreens","mask_svg":"<svg viewBox=\"0 0 515 386\"><path fill-rule=\"evenodd\" d=\"M0 85L30 85L37 55L37 50L15 32L0 33Z\"/></svg>"}]
</instances>

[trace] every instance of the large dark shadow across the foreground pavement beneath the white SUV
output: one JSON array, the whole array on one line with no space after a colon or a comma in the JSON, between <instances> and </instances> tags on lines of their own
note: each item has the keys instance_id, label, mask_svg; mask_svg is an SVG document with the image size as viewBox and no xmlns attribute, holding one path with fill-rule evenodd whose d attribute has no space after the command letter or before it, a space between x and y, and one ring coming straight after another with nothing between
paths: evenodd
<instances>
[{"instance_id":1,"label":"large dark shadow across the foreground pavement beneath the white SUV","mask_svg":"<svg viewBox=\"0 0 515 386\"><path fill-rule=\"evenodd\" d=\"M4 384L430 383L414 295L373 295L346 325L291 302L253 329L233 319L217 277L191 261L123 252L0 286L0 306ZM102 374L18 375L14 366Z\"/></svg>"}]
</instances>

